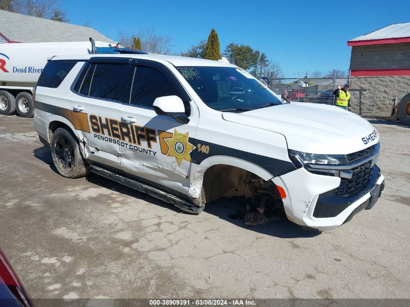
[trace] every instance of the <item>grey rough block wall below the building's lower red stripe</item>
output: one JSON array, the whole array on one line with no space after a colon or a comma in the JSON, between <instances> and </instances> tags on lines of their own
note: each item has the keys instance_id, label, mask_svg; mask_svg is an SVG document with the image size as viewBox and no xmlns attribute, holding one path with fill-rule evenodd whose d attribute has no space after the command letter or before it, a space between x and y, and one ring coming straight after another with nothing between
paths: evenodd
<instances>
[{"instance_id":1,"label":"grey rough block wall below the building's lower red stripe","mask_svg":"<svg viewBox=\"0 0 410 307\"><path fill-rule=\"evenodd\" d=\"M350 86L350 105L353 111L373 110L387 115L392 111L394 97L400 102L410 93L410 76L351 77Z\"/></svg>"}]
</instances>

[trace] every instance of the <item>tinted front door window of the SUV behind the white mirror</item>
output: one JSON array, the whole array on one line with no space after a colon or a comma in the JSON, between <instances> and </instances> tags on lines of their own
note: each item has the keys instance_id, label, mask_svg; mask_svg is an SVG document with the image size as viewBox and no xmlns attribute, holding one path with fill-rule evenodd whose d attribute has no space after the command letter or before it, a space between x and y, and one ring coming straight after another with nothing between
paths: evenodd
<instances>
[{"instance_id":1,"label":"tinted front door window of the SUV behind the white mirror","mask_svg":"<svg viewBox=\"0 0 410 307\"><path fill-rule=\"evenodd\" d=\"M151 67L137 66L131 104L152 108L156 98L170 95L177 95L177 92L162 72Z\"/></svg>"}]
</instances>

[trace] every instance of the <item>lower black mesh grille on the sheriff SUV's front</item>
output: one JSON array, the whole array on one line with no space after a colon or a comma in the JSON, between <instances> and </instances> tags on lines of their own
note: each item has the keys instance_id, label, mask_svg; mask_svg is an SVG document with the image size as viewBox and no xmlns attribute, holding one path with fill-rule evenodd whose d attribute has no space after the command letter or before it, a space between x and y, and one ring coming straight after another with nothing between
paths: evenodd
<instances>
[{"instance_id":1,"label":"lower black mesh grille on the sheriff SUV's front","mask_svg":"<svg viewBox=\"0 0 410 307\"><path fill-rule=\"evenodd\" d=\"M375 166L372 165L372 161L369 161L353 168L351 172L353 173L352 178L341 179L340 186L334 191L336 196L351 197L359 194L373 178Z\"/></svg>"}]
</instances>

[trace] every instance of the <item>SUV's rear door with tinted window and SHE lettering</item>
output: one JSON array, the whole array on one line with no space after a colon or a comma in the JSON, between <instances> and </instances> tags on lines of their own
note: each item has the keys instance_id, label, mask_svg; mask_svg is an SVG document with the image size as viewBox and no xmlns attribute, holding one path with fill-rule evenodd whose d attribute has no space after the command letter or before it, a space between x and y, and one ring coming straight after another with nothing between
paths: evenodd
<instances>
[{"instance_id":1,"label":"SUV's rear door with tinted window and SHE lettering","mask_svg":"<svg viewBox=\"0 0 410 307\"><path fill-rule=\"evenodd\" d=\"M71 121L85 122L77 130L85 140L87 159L120 167L118 110L130 100L135 67L127 58L91 58L85 65L70 101Z\"/></svg>"}]
</instances>

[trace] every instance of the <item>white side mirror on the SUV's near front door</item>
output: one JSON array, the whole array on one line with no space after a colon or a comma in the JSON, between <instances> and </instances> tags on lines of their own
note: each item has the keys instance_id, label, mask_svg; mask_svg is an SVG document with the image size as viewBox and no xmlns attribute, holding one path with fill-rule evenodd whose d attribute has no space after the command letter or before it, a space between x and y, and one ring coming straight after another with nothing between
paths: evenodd
<instances>
[{"instance_id":1,"label":"white side mirror on the SUV's near front door","mask_svg":"<svg viewBox=\"0 0 410 307\"><path fill-rule=\"evenodd\" d=\"M154 111L161 116L174 117L181 124L188 124L189 118L185 114L185 106L178 96L163 96L155 99Z\"/></svg>"}]
</instances>

